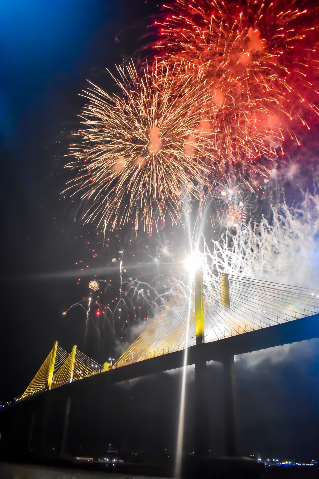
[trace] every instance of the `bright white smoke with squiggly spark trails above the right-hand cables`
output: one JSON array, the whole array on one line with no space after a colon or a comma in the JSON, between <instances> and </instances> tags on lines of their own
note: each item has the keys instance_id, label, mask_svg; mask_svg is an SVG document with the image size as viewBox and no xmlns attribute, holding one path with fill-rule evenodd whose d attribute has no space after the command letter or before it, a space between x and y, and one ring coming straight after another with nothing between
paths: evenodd
<instances>
[{"instance_id":1,"label":"bright white smoke with squiggly spark trails above the right-hand cables","mask_svg":"<svg viewBox=\"0 0 319 479\"><path fill-rule=\"evenodd\" d=\"M296 207L283 203L271 212L236 234L227 230L210 245L205 241L205 260L218 274L318 286L319 197L307 192Z\"/></svg>"}]
</instances>

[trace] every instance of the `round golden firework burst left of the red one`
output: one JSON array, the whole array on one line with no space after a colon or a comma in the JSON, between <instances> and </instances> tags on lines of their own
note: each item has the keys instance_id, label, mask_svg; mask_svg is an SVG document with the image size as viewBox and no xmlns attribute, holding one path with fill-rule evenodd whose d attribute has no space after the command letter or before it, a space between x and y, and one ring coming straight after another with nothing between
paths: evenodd
<instances>
[{"instance_id":1,"label":"round golden firework burst left of the red one","mask_svg":"<svg viewBox=\"0 0 319 479\"><path fill-rule=\"evenodd\" d=\"M138 76L131 64L114 78L120 96L93 84L84 93L82 142L67 167L77 173L69 188L85 203L85 222L114 229L132 221L137 230L142 221L151 234L166 216L176 222L185 200L201 200L208 125L195 106L205 104L205 88L202 73L182 79L182 70L162 65Z\"/></svg>"}]
</instances>

